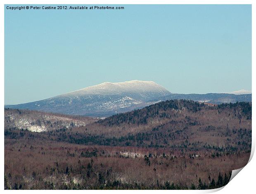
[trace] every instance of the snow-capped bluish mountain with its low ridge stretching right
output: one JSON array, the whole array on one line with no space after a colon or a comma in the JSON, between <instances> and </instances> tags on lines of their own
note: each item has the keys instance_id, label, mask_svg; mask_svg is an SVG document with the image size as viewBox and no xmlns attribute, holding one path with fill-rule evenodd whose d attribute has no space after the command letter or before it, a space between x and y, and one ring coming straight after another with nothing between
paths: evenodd
<instances>
[{"instance_id":1,"label":"snow-capped bluish mountain with its low ridge stretching right","mask_svg":"<svg viewBox=\"0 0 256 194\"><path fill-rule=\"evenodd\" d=\"M106 117L168 99L192 99L220 104L237 101L251 102L251 94L174 94L153 81L132 80L120 83L104 82L36 102L5 105L5 108Z\"/></svg>"}]
</instances>

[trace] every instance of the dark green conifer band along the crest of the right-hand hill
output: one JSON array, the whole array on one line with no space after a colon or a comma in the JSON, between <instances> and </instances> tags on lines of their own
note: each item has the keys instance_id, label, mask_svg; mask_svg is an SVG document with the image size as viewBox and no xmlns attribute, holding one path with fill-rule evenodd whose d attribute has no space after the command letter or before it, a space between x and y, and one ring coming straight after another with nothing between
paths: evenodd
<instances>
[{"instance_id":1,"label":"dark green conifer band along the crest of the right-hand hill","mask_svg":"<svg viewBox=\"0 0 256 194\"><path fill-rule=\"evenodd\" d=\"M197 111L204 111L207 109L233 109L237 112L237 118L245 116L247 119L251 119L251 102L237 102L230 104L220 104L218 106L208 106L204 103L194 102L192 100L185 99L173 99L159 102L143 109L137 109L128 113L120 113L114 116L105 118L104 120L96 121L106 126L120 125L121 123L128 124L147 124L148 119L155 117L158 118L173 118L175 117L175 111L188 110L192 113ZM242 111L241 111L242 109Z\"/></svg>"}]
</instances>

